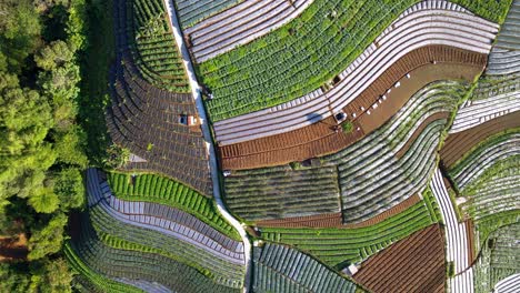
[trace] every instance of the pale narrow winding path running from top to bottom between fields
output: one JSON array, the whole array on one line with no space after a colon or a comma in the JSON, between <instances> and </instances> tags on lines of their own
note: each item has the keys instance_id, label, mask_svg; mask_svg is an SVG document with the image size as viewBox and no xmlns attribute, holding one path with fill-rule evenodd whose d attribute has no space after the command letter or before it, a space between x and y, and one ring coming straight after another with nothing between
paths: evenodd
<instances>
[{"instance_id":1,"label":"pale narrow winding path running from top to bottom between fields","mask_svg":"<svg viewBox=\"0 0 520 293\"><path fill-rule=\"evenodd\" d=\"M204 133L206 140L206 148L209 152L210 158L210 170L211 170L211 179L213 182L213 194L214 200L217 201L217 206L226 220L230 222L234 229L239 232L240 236L242 238L243 247L244 247L244 261L246 261L246 280L244 280L244 292L249 291L250 284L250 275L251 275L251 243L249 242L248 234L246 230L240 224L237 219L234 219L227 210L226 205L222 202L222 198L220 194L220 184L219 184L219 169L217 165L217 154L214 152L213 142L211 140L211 132L209 129L206 117L204 104L202 101L202 97L200 94L200 85L197 82L197 77L194 74L193 64L191 63L190 54L188 52L188 48L184 43L184 39L182 38L182 33L180 30L179 19L177 17L177 12L173 6L173 0L164 0L164 4L168 11L168 16L170 19L170 23L173 31L173 37L176 38L176 43L179 47L179 51L182 54L182 61L184 62L184 67L188 73L188 80L190 82L191 92L193 93L193 98L196 101L197 110L200 115L201 128Z\"/></svg>"}]
</instances>

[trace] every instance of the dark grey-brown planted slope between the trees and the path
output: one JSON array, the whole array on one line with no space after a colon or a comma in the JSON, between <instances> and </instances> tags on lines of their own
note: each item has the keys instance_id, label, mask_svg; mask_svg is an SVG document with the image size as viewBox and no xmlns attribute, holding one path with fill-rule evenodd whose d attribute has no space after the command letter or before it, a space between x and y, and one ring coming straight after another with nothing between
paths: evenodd
<instances>
[{"instance_id":1,"label":"dark grey-brown planted slope between the trees and the path","mask_svg":"<svg viewBox=\"0 0 520 293\"><path fill-rule=\"evenodd\" d=\"M141 78L128 52L124 8L124 0L116 1L118 54L111 71L112 105L106 117L110 135L142 159L128 163L127 170L159 172L209 196L212 184L200 129L179 122L181 115L198 117L193 99L160 90Z\"/></svg>"}]
</instances>

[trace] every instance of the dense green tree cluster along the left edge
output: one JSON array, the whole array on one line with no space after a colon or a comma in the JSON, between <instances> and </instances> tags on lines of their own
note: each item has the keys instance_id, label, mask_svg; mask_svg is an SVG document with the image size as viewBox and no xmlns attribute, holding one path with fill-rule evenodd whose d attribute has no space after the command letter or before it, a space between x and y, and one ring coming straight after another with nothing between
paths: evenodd
<instances>
[{"instance_id":1,"label":"dense green tree cluster along the left edge","mask_svg":"<svg viewBox=\"0 0 520 293\"><path fill-rule=\"evenodd\" d=\"M0 257L0 292L71 291L60 250L84 201L84 0L0 1L0 238L28 236L27 256Z\"/></svg>"}]
</instances>

